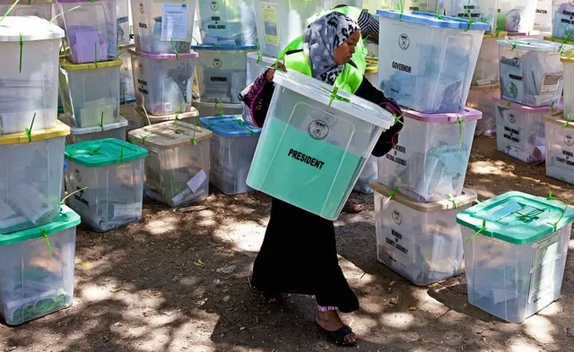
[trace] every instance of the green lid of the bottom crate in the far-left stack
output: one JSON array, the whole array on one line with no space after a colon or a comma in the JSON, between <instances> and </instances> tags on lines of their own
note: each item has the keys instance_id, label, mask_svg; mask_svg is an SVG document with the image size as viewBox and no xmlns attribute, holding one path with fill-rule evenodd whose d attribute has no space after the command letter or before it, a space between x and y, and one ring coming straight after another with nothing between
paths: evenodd
<instances>
[{"instance_id":1,"label":"green lid of the bottom crate in the far-left stack","mask_svg":"<svg viewBox=\"0 0 574 352\"><path fill-rule=\"evenodd\" d=\"M0 235L0 245L13 245L30 239L36 239L41 236L50 236L57 232L64 231L80 224L80 216L70 208L62 205L60 207L60 217L57 221L39 226L38 228L28 228L22 231L13 232L12 234Z\"/></svg>"}]
</instances>

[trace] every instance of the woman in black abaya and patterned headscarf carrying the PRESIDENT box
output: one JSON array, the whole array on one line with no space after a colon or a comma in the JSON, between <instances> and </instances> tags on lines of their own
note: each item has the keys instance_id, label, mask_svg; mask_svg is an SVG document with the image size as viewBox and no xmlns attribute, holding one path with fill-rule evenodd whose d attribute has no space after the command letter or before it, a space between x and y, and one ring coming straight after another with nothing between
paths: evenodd
<instances>
[{"instance_id":1,"label":"woman in black abaya and patterned headscarf carrying the PRESIDENT box","mask_svg":"<svg viewBox=\"0 0 574 352\"><path fill-rule=\"evenodd\" d=\"M344 13L328 13L309 25L299 52L305 54L314 78L334 84L339 74L348 68L346 65L352 65L351 58L360 38L361 30L355 21ZM287 69L283 64L279 66L283 71L290 69L289 65ZM258 125L265 122L274 91L273 78L274 70L267 70L245 97ZM367 79L362 80L354 93L387 108L395 116L402 115L396 102L385 98ZM372 154L381 157L391 150L401 127L402 122L396 123L383 133ZM273 199L264 243L253 268L251 288L272 301L277 301L282 293L315 296L316 322L327 337L341 346L358 342L337 313L337 310L351 313L359 309L359 300L338 264L333 221Z\"/></svg>"}]
</instances>

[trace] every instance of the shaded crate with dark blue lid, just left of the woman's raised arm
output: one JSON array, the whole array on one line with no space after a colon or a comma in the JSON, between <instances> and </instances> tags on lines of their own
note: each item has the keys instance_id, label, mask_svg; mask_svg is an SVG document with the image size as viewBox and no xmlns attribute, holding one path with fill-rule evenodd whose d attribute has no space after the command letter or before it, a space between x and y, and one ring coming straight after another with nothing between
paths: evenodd
<instances>
[{"instance_id":1,"label":"shaded crate with dark blue lid, just left of the woman's raised arm","mask_svg":"<svg viewBox=\"0 0 574 352\"><path fill-rule=\"evenodd\" d=\"M196 73L201 101L239 104L238 95L247 82L247 54L255 46L201 45L192 49L199 54Z\"/></svg>"}]
</instances>

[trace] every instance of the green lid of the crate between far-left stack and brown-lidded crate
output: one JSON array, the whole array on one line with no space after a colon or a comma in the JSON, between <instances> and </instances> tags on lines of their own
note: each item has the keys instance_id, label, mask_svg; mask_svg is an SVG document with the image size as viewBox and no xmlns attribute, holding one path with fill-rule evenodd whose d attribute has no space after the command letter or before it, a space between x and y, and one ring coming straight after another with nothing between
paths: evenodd
<instances>
[{"instance_id":1,"label":"green lid of the crate between far-left stack and brown-lidded crate","mask_svg":"<svg viewBox=\"0 0 574 352\"><path fill-rule=\"evenodd\" d=\"M84 167L104 167L145 157L147 150L116 138L75 143L65 147L65 159Z\"/></svg>"}]
</instances>

